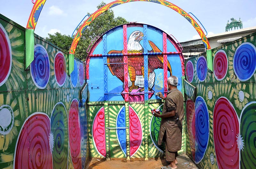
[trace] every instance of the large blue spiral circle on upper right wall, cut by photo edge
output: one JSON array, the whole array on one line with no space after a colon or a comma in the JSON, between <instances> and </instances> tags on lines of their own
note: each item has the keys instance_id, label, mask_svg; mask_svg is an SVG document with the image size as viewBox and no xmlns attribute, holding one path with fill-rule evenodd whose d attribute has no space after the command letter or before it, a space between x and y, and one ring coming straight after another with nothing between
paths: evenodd
<instances>
[{"instance_id":1,"label":"large blue spiral circle on upper right wall, cut by photo edge","mask_svg":"<svg viewBox=\"0 0 256 169\"><path fill-rule=\"evenodd\" d=\"M256 70L256 48L249 42L242 43L235 52L233 69L240 81L249 80Z\"/></svg>"}]
</instances>

